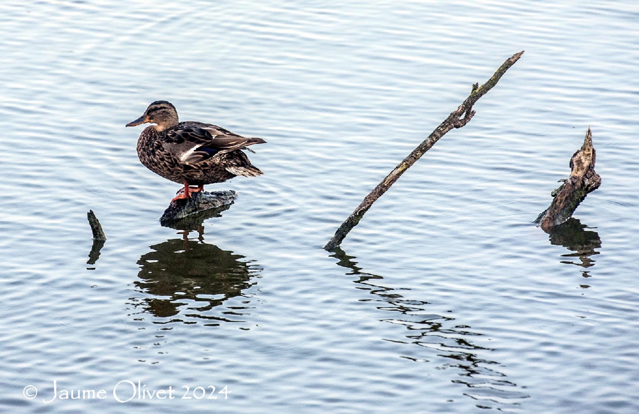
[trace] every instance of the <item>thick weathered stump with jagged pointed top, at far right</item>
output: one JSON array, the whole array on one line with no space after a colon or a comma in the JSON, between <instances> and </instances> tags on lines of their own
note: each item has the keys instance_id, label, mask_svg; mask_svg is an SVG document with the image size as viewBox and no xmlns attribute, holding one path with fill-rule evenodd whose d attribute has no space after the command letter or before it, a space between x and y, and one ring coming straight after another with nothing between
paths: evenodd
<instances>
[{"instance_id":1,"label":"thick weathered stump with jagged pointed top, at far right","mask_svg":"<svg viewBox=\"0 0 639 414\"><path fill-rule=\"evenodd\" d=\"M589 127L580 150L570 158L570 176L551 193L554 198L550 207L535 219L544 231L566 222L586 195L599 188L601 177L595 172L595 159Z\"/></svg>"}]
</instances>

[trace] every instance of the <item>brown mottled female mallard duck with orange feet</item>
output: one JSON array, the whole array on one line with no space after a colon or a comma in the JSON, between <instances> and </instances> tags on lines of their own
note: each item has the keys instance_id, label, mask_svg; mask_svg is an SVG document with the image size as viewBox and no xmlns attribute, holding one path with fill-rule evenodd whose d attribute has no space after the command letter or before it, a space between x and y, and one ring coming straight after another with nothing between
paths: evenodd
<instances>
[{"instance_id":1,"label":"brown mottled female mallard duck with orange feet","mask_svg":"<svg viewBox=\"0 0 639 414\"><path fill-rule=\"evenodd\" d=\"M153 173L184 184L184 193L173 200L189 198L190 193L204 190L204 184L262 174L241 151L265 143L261 138L245 138L203 122L178 122L178 111L166 101L153 102L127 127L147 122L157 125L144 128L137 140L137 155Z\"/></svg>"}]
</instances>

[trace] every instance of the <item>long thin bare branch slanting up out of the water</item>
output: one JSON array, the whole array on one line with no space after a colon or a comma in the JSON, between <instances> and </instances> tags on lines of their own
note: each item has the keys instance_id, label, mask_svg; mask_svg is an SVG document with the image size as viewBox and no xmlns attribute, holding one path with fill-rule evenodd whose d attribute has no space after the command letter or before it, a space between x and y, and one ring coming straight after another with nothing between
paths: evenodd
<instances>
[{"instance_id":1,"label":"long thin bare branch slanting up out of the water","mask_svg":"<svg viewBox=\"0 0 639 414\"><path fill-rule=\"evenodd\" d=\"M324 249L332 251L335 247L339 246L342 240L346 237L346 234L348 234L353 227L357 226L362 217L364 217L364 214L366 214L366 211L373 206L373 203L399 179L399 176L401 176L404 171L406 171L411 165L415 164L415 162L419 160L426 151L430 150L433 145L435 145L435 142L439 141L444 134L452 130L452 128L461 128L466 125L466 123L468 123L468 121L470 121L470 119L475 115L475 111L473 111L473 105L475 102L477 102L477 100L479 100L482 96L486 95L493 86L497 85L499 79L501 79L504 73L519 60L522 54L523 50L506 59L504 64L497 69L497 72L495 72L495 74L493 74L493 76L482 86L474 84L468 98L459 105L458 109L451 112L448 118L444 119L439 127L435 128L435 130L431 132L431 134L428 135L428 137L419 144L419 146L417 146L417 148L415 148L408 157L404 158L404 160L400 162L399 165L397 165L397 167L395 167L395 169L377 185L377 187L373 188L369 195L364 198L364 201L362 201L355 211L353 211L342 225L339 226L337 231L335 231L333 238L331 238L324 246Z\"/></svg>"}]
</instances>

